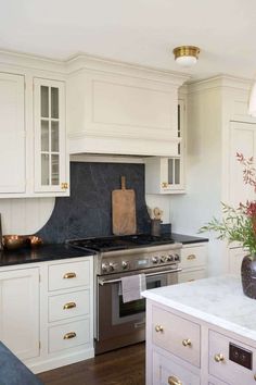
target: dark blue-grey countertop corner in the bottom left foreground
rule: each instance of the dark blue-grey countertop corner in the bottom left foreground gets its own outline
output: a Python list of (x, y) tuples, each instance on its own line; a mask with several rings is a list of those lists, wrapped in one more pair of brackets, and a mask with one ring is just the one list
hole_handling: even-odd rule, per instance
[(22, 363), (11, 350), (0, 341), (0, 384), (1, 385), (42, 385), (42, 383)]

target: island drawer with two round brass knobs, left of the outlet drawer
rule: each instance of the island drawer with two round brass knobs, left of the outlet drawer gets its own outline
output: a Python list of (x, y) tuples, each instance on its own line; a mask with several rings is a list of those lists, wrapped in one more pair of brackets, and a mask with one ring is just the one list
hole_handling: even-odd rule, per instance
[(153, 308), (153, 343), (200, 368), (200, 325)]

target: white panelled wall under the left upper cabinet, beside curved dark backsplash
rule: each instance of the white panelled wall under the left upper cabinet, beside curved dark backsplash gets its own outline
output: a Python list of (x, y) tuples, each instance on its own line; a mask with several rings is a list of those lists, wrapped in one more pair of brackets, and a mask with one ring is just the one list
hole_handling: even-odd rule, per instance
[(2, 233), (34, 234), (51, 216), (55, 198), (0, 199)]

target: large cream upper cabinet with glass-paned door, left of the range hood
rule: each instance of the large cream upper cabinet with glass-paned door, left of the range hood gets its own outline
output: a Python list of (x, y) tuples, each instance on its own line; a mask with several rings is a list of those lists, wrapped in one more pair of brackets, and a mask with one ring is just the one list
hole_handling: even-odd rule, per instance
[(63, 64), (0, 53), (0, 198), (69, 195)]

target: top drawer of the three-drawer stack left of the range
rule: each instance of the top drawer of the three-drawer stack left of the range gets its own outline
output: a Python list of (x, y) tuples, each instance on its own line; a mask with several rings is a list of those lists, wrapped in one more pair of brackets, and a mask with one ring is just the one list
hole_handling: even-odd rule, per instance
[(90, 261), (52, 264), (48, 272), (50, 291), (90, 283)]

